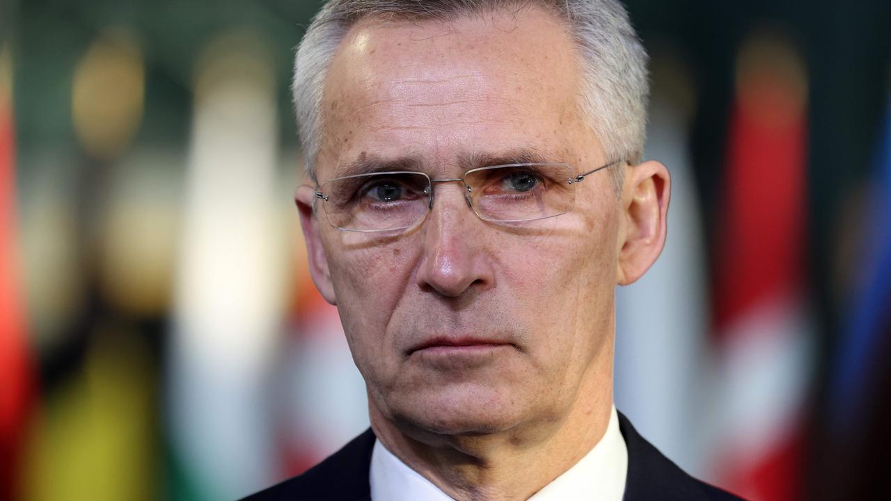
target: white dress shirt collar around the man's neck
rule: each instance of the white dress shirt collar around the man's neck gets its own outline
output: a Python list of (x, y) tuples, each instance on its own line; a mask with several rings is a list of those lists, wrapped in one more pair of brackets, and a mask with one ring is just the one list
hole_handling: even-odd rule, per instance
[[(572, 468), (529, 497), (528, 501), (620, 501), (625, 493), (628, 449), (613, 406), (601, 441)], [(415, 472), (375, 440), (369, 473), (372, 501), (452, 501), (430, 480)]]

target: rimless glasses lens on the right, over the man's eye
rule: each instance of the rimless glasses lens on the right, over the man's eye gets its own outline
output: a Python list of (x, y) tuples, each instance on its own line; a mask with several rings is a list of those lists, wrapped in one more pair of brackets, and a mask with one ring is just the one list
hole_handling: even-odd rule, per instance
[(511, 222), (552, 218), (572, 210), (575, 190), (567, 165), (522, 164), (476, 168), (464, 181), (480, 218)]

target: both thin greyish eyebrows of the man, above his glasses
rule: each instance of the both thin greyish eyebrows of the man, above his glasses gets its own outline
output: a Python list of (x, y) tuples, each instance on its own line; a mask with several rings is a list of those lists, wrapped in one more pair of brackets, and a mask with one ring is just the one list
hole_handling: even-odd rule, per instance
[[(388, 171), (422, 172), (426, 162), (420, 157), (406, 156), (386, 159), (374, 154), (363, 154), (358, 159), (344, 164), (335, 171), (334, 177), (350, 177), (361, 174)], [(544, 154), (537, 148), (514, 148), (504, 152), (465, 153), (458, 157), (462, 171), (471, 168), (492, 167), (513, 163), (561, 163), (560, 160)]]

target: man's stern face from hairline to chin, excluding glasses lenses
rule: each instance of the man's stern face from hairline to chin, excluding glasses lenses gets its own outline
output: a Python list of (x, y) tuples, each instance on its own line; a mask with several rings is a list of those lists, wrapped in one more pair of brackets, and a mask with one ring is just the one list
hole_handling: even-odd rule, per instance
[[(576, 109), (573, 53), (536, 9), (361, 21), (325, 83), (319, 182), (363, 159), (411, 158), (434, 178), (519, 152), (576, 173), (615, 160)], [(580, 389), (609, 384), (620, 208), (607, 171), (575, 189), (572, 212), (511, 226), (477, 218), (457, 183), (437, 184), (423, 224), (397, 236), (305, 221), (377, 411), (430, 431), (503, 431), (559, 422)]]

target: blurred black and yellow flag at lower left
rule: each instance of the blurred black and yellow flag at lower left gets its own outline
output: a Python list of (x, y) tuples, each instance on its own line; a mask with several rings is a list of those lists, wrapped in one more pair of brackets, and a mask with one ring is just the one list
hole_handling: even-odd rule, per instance
[(83, 365), (42, 398), (28, 444), (29, 501), (158, 498), (154, 368), (123, 324), (94, 324)]

